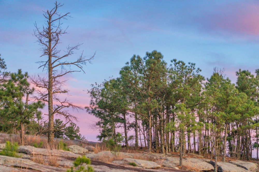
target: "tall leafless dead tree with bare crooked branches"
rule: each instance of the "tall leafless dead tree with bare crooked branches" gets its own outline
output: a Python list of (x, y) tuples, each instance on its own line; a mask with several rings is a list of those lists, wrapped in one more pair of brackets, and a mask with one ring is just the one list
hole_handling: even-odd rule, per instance
[[(48, 143), (53, 146), (54, 140), (54, 116), (63, 116), (66, 121), (77, 120), (67, 108), (78, 109), (78, 107), (70, 102), (68, 99), (61, 100), (58, 96), (61, 93), (68, 93), (69, 90), (63, 88), (67, 80), (62, 80), (62, 77), (68, 73), (83, 71), (83, 65), (87, 62), (91, 63), (94, 55), (90, 58), (85, 58), (83, 53), (79, 58), (73, 59), (71, 55), (75, 50), (79, 49), (82, 44), (76, 46), (68, 46), (64, 54), (61, 55), (61, 50), (57, 48), (57, 45), (61, 43), (60, 36), (66, 34), (66, 29), (61, 28), (61, 20), (67, 20), (70, 13), (61, 14), (57, 10), (63, 6), (63, 4), (55, 2), (55, 6), (51, 10), (44, 12), (46, 18), (46, 26), (39, 28), (35, 22), (34, 36), (37, 38), (37, 42), (41, 45), (42, 55), (44, 60), (38, 61), (39, 68), (43, 71), (47, 71), (47, 77), (34, 77), (32, 82), (39, 88), (38, 99), (48, 103)], [(77, 68), (74, 70), (73, 67)], [(85, 73), (85, 72), (84, 72)]]

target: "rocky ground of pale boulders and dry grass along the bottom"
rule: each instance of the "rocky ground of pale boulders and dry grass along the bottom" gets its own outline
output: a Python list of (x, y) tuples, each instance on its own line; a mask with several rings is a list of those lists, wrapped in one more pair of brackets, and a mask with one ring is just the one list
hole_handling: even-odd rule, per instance
[[(0, 133), (0, 149), (5, 146), (5, 141), (15, 135)], [(85, 142), (85, 141), (84, 141)], [(95, 171), (119, 172), (119, 171), (213, 171), (214, 161), (205, 159), (202, 156), (188, 154), (183, 158), (183, 169), (179, 169), (178, 154), (158, 154), (150, 155), (142, 153), (125, 153), (111, 151), (95, 151), (95, 144), (84, 143), (79, 140), (71, 142), (68, 146), (70, 151), (57, 149), (42, 149), (33, 146), (19, 146), (18, 154), (20, 158), (0, 155), (0, 172), (2, 171), (66, 171), (73, 166), (73, 161), (85, 155), (91, 159), (91, 166)], [(79, 146), (80, 145), (80, 146)], [(94, 153), (94, 151), (96, 153)], [(136, 167), (129, 165), (135, 163)], [(258, 171), (258, 165), (254, 162), (232, 160), (228, 162), (218, 162), (218, 171), (221, 172), (242, 172)]]

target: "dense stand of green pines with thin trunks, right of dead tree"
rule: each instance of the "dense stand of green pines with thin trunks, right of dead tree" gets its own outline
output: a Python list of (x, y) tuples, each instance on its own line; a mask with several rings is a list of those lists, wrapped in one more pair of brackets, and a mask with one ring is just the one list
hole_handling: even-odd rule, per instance
[(133, 55), (118, 78), (88, 91), (86, 110), (98, 118), (97, 137), (118, 143), (123, 128), (125, 145), (134, 140), (148, 153), (192, 152), (225, 161), (226, 156), (249, 160), (257, 149), (258, 158), (259, 70), (254, 76), (240, 69), (236, 84), (224, 69), (215, 67), (206, 79), (200, 72), (195, 63), (168, 64), (157, 51)]

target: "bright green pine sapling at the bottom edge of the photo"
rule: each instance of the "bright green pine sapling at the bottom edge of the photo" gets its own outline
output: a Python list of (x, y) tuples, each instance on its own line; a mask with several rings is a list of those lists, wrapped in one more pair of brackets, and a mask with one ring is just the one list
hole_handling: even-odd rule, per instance
[[(87, 169), (85, 169), (85, 165), (91, 164), (91, 160), (89, 158), (86, 158), (85, 155), (82, 157), (77, 157), (76, 160), (74, 161), (74, 167), (71, 167), (70, 169), (67, 170), (67, 172), (93, 172), (92, 166), (87, 166)], [(75, 170), (74, 170), (75, 168)]]

